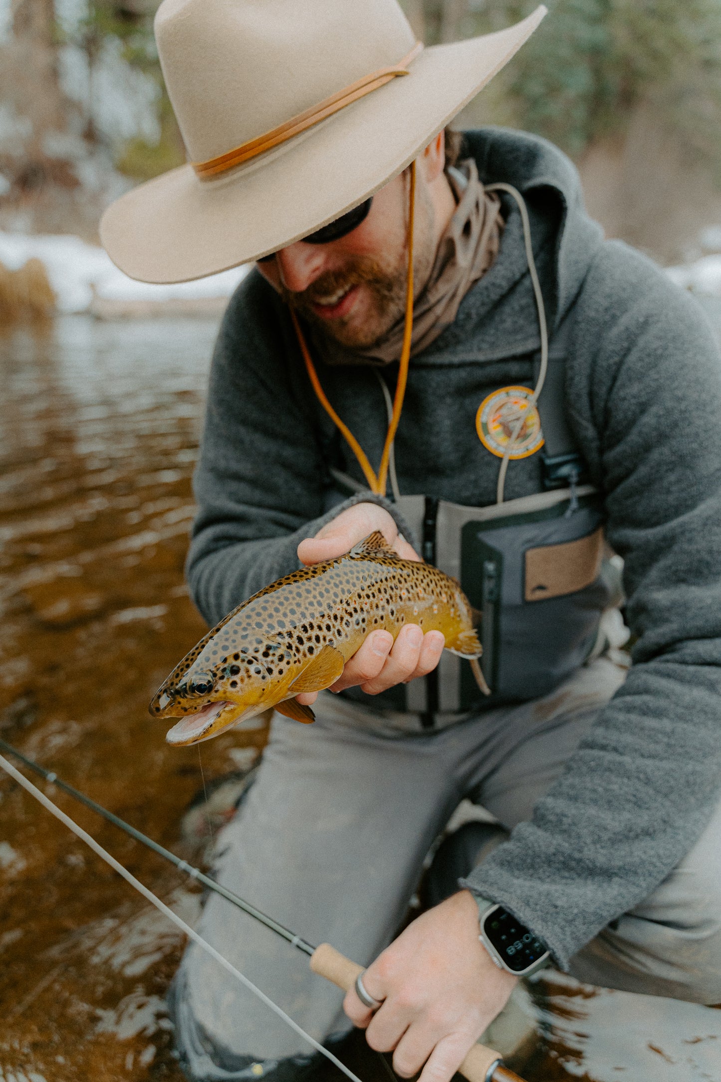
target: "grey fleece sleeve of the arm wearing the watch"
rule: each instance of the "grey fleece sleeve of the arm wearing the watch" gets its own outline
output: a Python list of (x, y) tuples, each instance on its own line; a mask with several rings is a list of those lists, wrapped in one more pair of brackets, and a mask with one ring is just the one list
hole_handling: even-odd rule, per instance
[(465, 881), (543, 936), (563, 967), (693, 846), (721, 787), (721, 361), (695, 303), (604, 246), (577, 301), (568, 406), (635, 645), (530, 822)]

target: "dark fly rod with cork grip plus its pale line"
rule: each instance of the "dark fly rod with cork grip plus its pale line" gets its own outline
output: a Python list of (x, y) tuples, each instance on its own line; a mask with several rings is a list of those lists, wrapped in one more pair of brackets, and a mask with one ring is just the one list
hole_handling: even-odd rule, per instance
[[(282, 924), (279, 924), (278, 921), (273, 921), (272, 918), (268, 916), (259, 909), (256, 909), (255, 906), (251, 906), (250, 902), (245, 901), (243, 898), (240, 898), (237, 894), (233, 894), (232, 890), (228, 890), (219, 883), (216, 883), (215, 880), (212, 880), (209, 875), (203, 874), (203, 872), (201, 872), (199, 868), (193, 868), (191, 865), (188, 865), (187, 861), (181, 860), (181, 858), (176, 857), (174, 853), (170, 852), (170, 849), (165, 849), (162, 845), (159, 845), (157, 842), (153, 842), (152, 839), (148, 837), (146, 834), (143, 834), (139, 830), (136, 830), (135, 827), (131, 827), (130, 823), (126, 823), (123, 819), (120, 819), (119, 816), (114, 815), (112, 812), (108, 812), (107, 808), (104, 808), (101, 804), (97, 804), (95, 801), (91, 800), (90, 796), (85, 796), (84, 793), (81, 793), (79, 790), (74, 789), (72, 786), (69, 786), (66, 781), (59, 779), (53, 770), (45, 770), (44, 767), (34, 762), (34, 760), (28, 758), (26, 755), (23, 755), (23, 753), (13, 748), (12, 744), (9, 744), (4, 740), (0, 740), (0, 750), (6, 752), (8, 754), (16, 756), (22, 763), (25, 764), (25, 766), (28, 767), (28, 769), (34, 770), (36, 774), (40, 775), (42, 778), (45, 779), (45, 781), (50, 782), (53, 786), (56, 786), (58, 789), (62, 789), (64, 792), (68, 793), (68, 795), (72, 796), (75, 800), (84, 804), (93, 812), (96, 812), (98, 815), (103, 816), (104, 819), (107, 819), (108, 822), (114, 823), (114, 826), (119, 827), (120, 830), (123, 830), (126, 834), (130, 834), (130, 836), (135, 839), (135, 841), (141, 842), (143, 845), (146, 845), (148, 848), (152, 849), (153, 853), (157, 853), (159, 856), (164, 857), (166, 860), (173, 863), (179, 871), (183, 871), (186, 874), (190, 875), (199, 883), (202, 883), (204, 886), (208, 886), (211, 890), (215, 890), (216, 894), (219, 894), (227, 901), (230, 901), (233, 906), (237, 906), (239, 909), (242, 909), (243, 912), (248, 913), (256, 921), (259, 921), (261, 924), (264, 924), (267, 928), (270, 928), (271, 932), (276, 932), (278, 935), (282, 936), (282, 938), (285, 939), (288, 942), (292, 944), (293, 947), (296, 947), (298, 950), (302, 950), (305, 954), (310, 955), (310, 968), (312, 969), (312, 972), (321, 977), (324, 977), (326, 980), (330, 980), (332, 984), (336, 985), (336, 987), (341, 988), (343, 991), (345, 992), (350, 991), (350, 989), (355, 987), (356, 978), (358, 977), (358, 975), (364, 972), (364, 967), (362, 965), (358, 965), (358, 963), (352, 962), (350, 959), (346, 958), (344, 954), (337, 951), (335, 947), (331, 947), (330, 944), (320, 944), (319, 947), (313, 947), (311, 944), (306, 942), (305, 939), (303, 939), (295, 933), (291, 932), (290, 928), (286, 928)], [(290, 1018), (283, 1011), (281, 1011), (281, 1008), (276, 1003), (272, 1002), (272, 1000), (269, 1000), (263, 992), (261, 992), (258, 988), (252, 985), (252, 982), (248, 980), (248, 978), (244, 977), (243, 974), (241, 974), (238, 969), (236, 969), (235, 966), (232, 966), (225, 958), (223, 958), (222, 954), (219, 954), (213, 947), (211, 947), (211, 945), (208, 944), (206, 940), (204, 940), (201, 936), (199, 936), (198, 933), (195, 932), (195, 929), (190, 928), (189, 925), (185, 924), (185, 922), (182, 921), (181, 918), (177, 916), (172, 909), (170, 909), (162, 901), (160, 901), (160, 899), (157, 898), (151, 890), (148, 890), (146, 886), (144, 886), (122, 865), (120, 865), (114, 857), (111, 857), (110, 854), (107, 853), (90, 834), (88, 834), (84, 830), (82, 830), (82, 828), (79, 827), (72, 819), (70, 819), (69, 816), (66, 816), (64, 812), (61, 812), (61, 809), (57, 808), (52, 801), (50, 801), (42, 792), (40, 792), (39, 789), (37, 789), (34, 784), (31, 784), (31, 782), (29, 782), (26, 778), (24, 778), (23, 775), (19, 774), (19, 771), (16, 770), (10, 763), (8, 763), (6, 760), (4, 760), (1, 755), (0, 755), (0, 767), (3, 770), (5, 770), (5, 773), (9, 774), (12, 778), (14, 778), (15, 781), (22, 784), (23, 788), (27, 790), (27, 792), (29, 792), (32, 796), (35, 796), (36, 800), (38, 800), (43, 805), (43, 807), (46, 807), (48, 810), (52, 813), (52, 815), (54, 815), (57, 819), (64, 822), (66, 827), (72, 830), (74, 833), (78, 835), (78, 837), (81, 837), (82, 841), (84, 841), (95, 853), (97, 853), (98, 856), (101, 856), (107, 863), (109, 863), (110, 867), (118, 872), (118, 874), (122, 875), (123, 879), (125, 879), (132, 886), (134, 886), (135, 889), (138, 890), (145, 898), (147, 898), (147, 900), (150, 901), (157, 909), (160, 909), (160, 911), (164, 913), (165, 916), (169, 918), (169, 920), (173, 921), (173, 923), (176, 924), (178, 927), (181, 927), (182, 931), (186, 933), (186, 935), (188, 935), (191, 939), (198, 942), (198, 945), (203, 950), (205, 950), (208, 953), (211, 953), (212, 956), (215, 958), (216, 961), (218, 961), (221, 965), (224, 966), (224, 968), (228, 969), (228, 972), (231, 973), (233, 976), (236, 976), (238, 979), (240, 979), (241, 982), (245, 985), (245, 987), (250, 988), (254, 992), (254, 994), (258, 995), (258, 998), (262, 999), (264, 1003), (266, 1003), (272, 1011), (276, 1012), (276, 1014), (278, 1014), (281, 1018), (283, 1018), (283, 1020), (286, 1021), (294, 1030), (296, 1030), (296, 1032), (298, 1032), (304, 1039), (308, 1040), (312, 1044), (312, 1046), (322, 1052), (323, 1055), (325, 1055), (328, 1058), (331, 1058), (331, 1060), (341, 1070), (343, 1070), (344, 1074), (352, 1079), (353, 1082), (359, 1082), (356, 1076), (352, 1074), (350, 1071), (348, 1071), (348, 1069), (339, 1060), (337, 1060), (334, 1056), (332, 1056), (326, 1048), (324, 1048), (322, 1045), (319, 1045), (316, 1041), (313, 1041), (312, 1038), (310, 1038), (304, 1030), (302, 1030), (296, 1025), (296, 1022), (293, 1021), (292, 1018)], [(458, 1068), (458, 1071), (466, 1079), (468, 1079), (468, 1082), (523, 1082), (523, 1080), (520, 1079), (518, 1074), (515, 1074), (513, 1071), (509, 1070), (509, 1068), (504, 1066), (502, 1056), (498, 1052), (495, 1052), (493, 1048), (488, 1048), (483, 1044), (475, 1044), (470, 1048), (466, 1058)]]

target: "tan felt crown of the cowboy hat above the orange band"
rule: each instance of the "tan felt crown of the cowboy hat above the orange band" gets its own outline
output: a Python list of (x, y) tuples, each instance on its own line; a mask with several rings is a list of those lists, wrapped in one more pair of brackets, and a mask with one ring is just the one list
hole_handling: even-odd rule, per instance
[(396, 0), (163, 0), (158, 53), (191, 161), (257, 138), (415, 36)]

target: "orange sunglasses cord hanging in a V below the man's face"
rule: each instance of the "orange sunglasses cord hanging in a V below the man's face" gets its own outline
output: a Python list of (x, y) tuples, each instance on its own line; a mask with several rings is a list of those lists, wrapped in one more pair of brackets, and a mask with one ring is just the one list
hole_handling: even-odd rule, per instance
[(345, 437), (351, 451), (358, 459), (361, 470), (365, 480), (368, 481), (369, 488), (376, 496), (386, 494), (386, 486), (388, 481), (388, 462), (390, 459), (390, 448), (393, 445), (393, 439), (396, 438), (396, 432), (398, 430), (398, 422), (401, 419), (401, 410), (403, 409), (403, 398), (405, 396), (405, 386), (408, 383), (408, 372), (409, 364), (411, 360), (411, 337), (413, 333), (413, 223), (414, 223), (414, 212), (415, 212), (415, 161), (411, 162), (411, 184), (410, 184), (410, 209), (409, 209), (409, 234), (408, 234), (408, 280), (405, 287), (405, 327), (403, 330), (403, 346), (401, 348), (401, 357), (398, 368), (398, 382), (396, 384), (396, 394), (393, 396), (393, 411), (390, 418), (390, 423), (388, 424), (388, 432), (386, 433), (386, 441), (383, 447), (383, 454), (380, 456), (380, 467), (376, 476), (371, 463), (368, 460), (365, 451), (358, 443), (352, 432), (348, 425), (344, 424), (338, 414), (335, 412), (330, 401), (325, 396), (325, 392), (320, 385), (320, 380), (318, 379), (318, 373), (316, 367), (312, 362), (310, 356), (310, 351), (306, 344), (305, 335), (301, 329), (301, 324), (298, 318), (291, 308), (291, 319), (293, 320), (293, 326), (295, 327), (295, 333), (298, 339), (298, 344), (301, 346), (301, 353), (303, 354), (303, 359), (306, 365), (306, 370), (308, 377), (312, 384), (312, 388), (318, 395), (318, 400), (321, 406), (331, 418), (333, 423), (337, 425), (338, 430)]

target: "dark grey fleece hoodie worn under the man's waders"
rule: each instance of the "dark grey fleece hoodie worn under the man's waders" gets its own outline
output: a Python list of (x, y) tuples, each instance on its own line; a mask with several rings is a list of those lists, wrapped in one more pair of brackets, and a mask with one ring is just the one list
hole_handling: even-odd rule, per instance
[[(467, 133), (485, 183), (528, 202), (551, 328), (573, 308), (566, 409), (606, 535), (625, 560), (636, 643), (628, 678), (530, 822), (470, 885), (572, 954), (641, 901), (693, 845), (721, 787), (721, 360), (705, 317), (649, 260), (604, 241), (577, 173), (553, 146), (503, 129)], [(455, 322), (411, 364), (396, 439), (401, 492), (495, 502), (498, 459), (476, 435), (478, 404), (532, 385), (537, 317), (520, 215)], [(385, 370), (392, 381), (397, 366)], [(372, 463), (386, 411), (368, 367), (319, 366), (323, 387)], [(283, 303), (252, 273), (226, 312), (211, 372), (192, 595), (212, 624), (298, 567), (298, 542), (359, 499), (351, 452), (307, 380)], [(542, 489), (539, 456), (510, 463), (506, 499)], [(401, 528), (403, 524), (401, 523)]]

